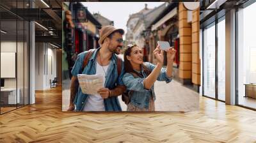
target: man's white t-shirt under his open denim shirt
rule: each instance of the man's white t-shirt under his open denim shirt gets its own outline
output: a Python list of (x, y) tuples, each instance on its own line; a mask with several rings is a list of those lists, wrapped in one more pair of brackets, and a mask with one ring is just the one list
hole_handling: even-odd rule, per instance
[[(106, 73), (108, 71), (108, 66), (109, 64), (107, 66), (103, 66)], [(103, 68), (97, 62), (96, 74), (102, 74), (103, 83), (105, 83), (106, 77)], [(100, 94), (89, 95), (84, 105), (83, 111), (105, 111), (104, 99), (100, 96)]]

